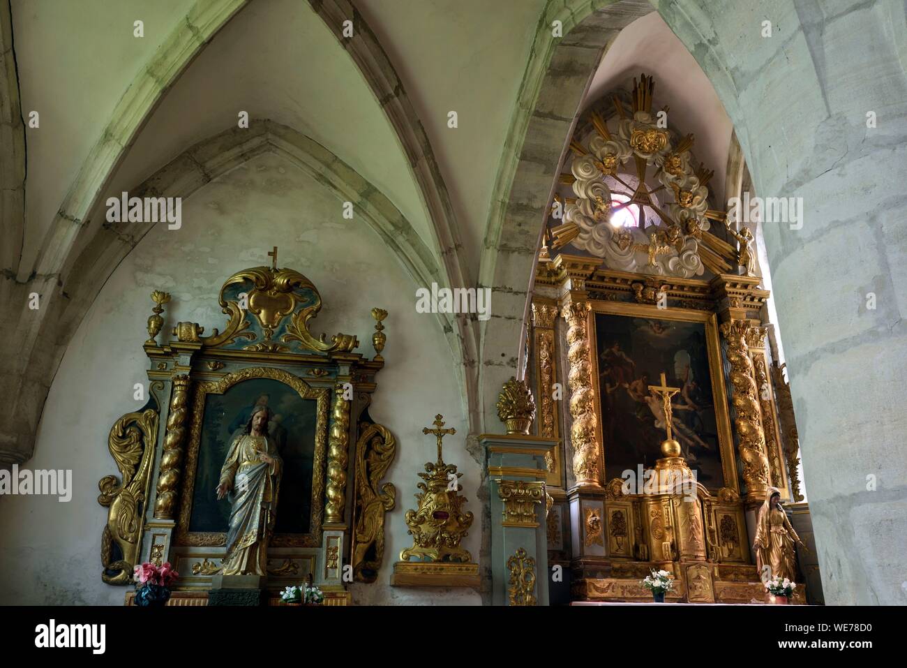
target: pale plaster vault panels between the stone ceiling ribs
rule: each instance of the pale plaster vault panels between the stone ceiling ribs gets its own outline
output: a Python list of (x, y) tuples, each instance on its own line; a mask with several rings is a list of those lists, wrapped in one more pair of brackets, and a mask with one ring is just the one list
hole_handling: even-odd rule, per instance
[[(543, 0), (357, 4), (424, 125), (450, 192), (463, 263), (473, 274), (543, 6)], [(22, 108), (24, 115), (41, 113), (40, 132), (26, 136), (23, 267), (34, 265), (123, 93), (192, 7), (191, 0), (13, 0)], [(133, 36), (136, 20), (144, 24), (141, 38)], [(239, 111), (248, 111), (252, 123), (268, 118), (324, 145), (384, 192), (439, 254), (429, 212), (375, 94), (322, 18), (299, 0), (242, 6), (163, 94), (106, 190), (134, 187), (191, 144), (235, 127)], [(451, 111), (457, 128), (448, 127)]]

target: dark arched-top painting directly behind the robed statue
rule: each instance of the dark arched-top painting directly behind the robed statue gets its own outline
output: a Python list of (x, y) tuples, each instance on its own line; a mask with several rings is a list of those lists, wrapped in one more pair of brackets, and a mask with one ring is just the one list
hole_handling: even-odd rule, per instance
[(315, 460), (317, 400), (302, 398), (273, 378), (251, 378), (223, 394), (205, 397), (199, 465), (192, 493), (190, 532), (225, 532), (230, 505), (218, 500), (221, 467), (230, 444), (248, 433), (250, 417), (267, 407), (267, 437), (282, 460), (275, 534), (307, 534), (311, 527), (312, 470)]

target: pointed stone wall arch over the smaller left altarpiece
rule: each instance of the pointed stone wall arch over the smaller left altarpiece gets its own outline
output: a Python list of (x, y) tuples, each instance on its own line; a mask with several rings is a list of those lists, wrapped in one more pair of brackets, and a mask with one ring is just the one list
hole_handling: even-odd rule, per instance
[[(219, 175), (264, 152), (287, 159), (334, 192), (339, 201), (354, 202), (357, 215), (395, 252), (415, 285), (444, 281), (443, 270), (434, 254), (382, 192), (324, 146), (280, 123), (262, 120), (249, 129), (231, 128), (198, 142), (129, 192), (136, 197), (188, 198)], [(90, 218), (103, 215), (102, 201), (101, 198), (95, 205)], [(28, 357), (21, 378), (22, 387), (28, 392), (24, 398), (28, 401), (20, 400), (20, 407), (32, 411), (29, 417), (34, 418), (35, 424), (73, 333), (104, 283), (154, 224), (104, 222), (78, 256), (67, 262), (61, 276), (64, 290), (54, 290), (43, 298), (46, 303), (42, 308), (53, 310), (54, 318), (43, 319), (41, 327), (34, 332), (34, 341), (25, 352)], [(450, 316), (438, 314), (437, 318), (451, 347), (454, 368), (462, 372), (463, 360), (459, 357), (462, 349), (453, 334)], [(464, 412), (466, 406), (467, 398), (463, 395)], [(28, 435), (17, 436), (24, 439)], [(34, 438), (34, 429), (31, 437)], [(24, 461), (30, 455), (22, 452), (16, 461)]]

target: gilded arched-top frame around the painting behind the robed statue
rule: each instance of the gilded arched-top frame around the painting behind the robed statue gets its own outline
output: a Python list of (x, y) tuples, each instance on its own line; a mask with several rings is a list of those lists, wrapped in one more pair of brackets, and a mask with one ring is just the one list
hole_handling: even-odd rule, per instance
[(175, 545), (189, 547), (210, 547), (225, 545), (227, 535), (217, 532), (190, 532), (192, 496), (195, 491), (195, 474), (199, 464), (201, 426), (204, 419), (205, 400), (211, 394), (224, 394), (229, 388), (250, 378), (271, 378), (297, 391), (304, 399), (317, 400), (317, 423), (315, 428), (315, 460), (312, 467), (312, 516), (307, 534), (275, 534), (270, 545), (275, 547), (317, 547), (321, 545), (321, 526), (325, 506), (325, 456), (327, 453), (327, 411), (330, 404), (328, 388), (313, 388), (305, 380), (280, 368), (247, 367), (227, 374), (216, 381), (201, 381), (196, 384), (195, 398), (191, 411), (189, 447), (186, 457), (186, 475), (183, 476), (180, 497), (180, 517), (175, 535)]

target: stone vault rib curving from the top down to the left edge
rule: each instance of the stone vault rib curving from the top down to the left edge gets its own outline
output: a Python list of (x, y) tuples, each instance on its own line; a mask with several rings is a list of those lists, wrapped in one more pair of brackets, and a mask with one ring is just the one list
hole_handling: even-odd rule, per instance
[[(247, 2), (197, 0), (192, 5), (116, 104), (110, 121), (85, 158), (44, 235), (34, 265), (24, 266), (16, 257), (15, 266), (5, 275), (0, 296), (11, 308), (0, 334), (5, 346), (15, 350), (15, 354), (0, 359), (0, 394), (12, 398), (9, 413), (18, 416), (18, 421), (0, 427), (0, 461), (21, 463), (32, 456), (44, 399), (64, 349), (54, 345), (41, 350), (36, 344), (44, 340), (42, 337), (47, 332), (56, 329), (50, 320), (57, 315), (57, 309), (71, 305), (69, 286), (63, 283), (63, 268), (74, 260), (73, 250), (88, 212), (163, 94)], [(4, 25), (8, 24), (4, 22)], [(6, 188), (5, 182), (3, 186)], [(5, 228), (18, 224), (15, 220), (7, 221), (11, 213), (16, 213), (14, 208), (4, 207)], [(19, 252), (15, 248), (14, 251)], [(29, 308), (30, 294), (39, 296), (39, 308)], [(82, 314), (77, 321), (82, 319)]]

